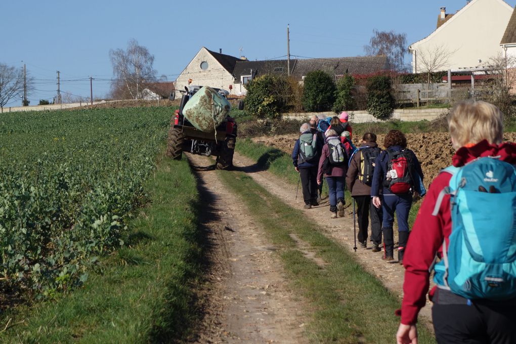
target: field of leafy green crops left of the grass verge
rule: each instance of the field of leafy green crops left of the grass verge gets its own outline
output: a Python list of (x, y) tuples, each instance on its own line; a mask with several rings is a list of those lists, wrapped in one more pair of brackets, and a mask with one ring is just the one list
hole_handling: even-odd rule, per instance
[(0, 117), (0, 279), (53, 296), (123, 245), (146, 202), (170, 108), (4, 113)]

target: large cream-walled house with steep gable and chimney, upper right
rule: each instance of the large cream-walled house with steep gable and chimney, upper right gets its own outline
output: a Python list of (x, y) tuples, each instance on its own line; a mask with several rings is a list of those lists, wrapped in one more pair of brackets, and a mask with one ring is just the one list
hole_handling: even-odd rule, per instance
[(441, 7), (437, 28), (412, 43), (412, 71), (474, 69), (500, 52), (513, 9), (503, 0), (472, 0), (455, 14)]

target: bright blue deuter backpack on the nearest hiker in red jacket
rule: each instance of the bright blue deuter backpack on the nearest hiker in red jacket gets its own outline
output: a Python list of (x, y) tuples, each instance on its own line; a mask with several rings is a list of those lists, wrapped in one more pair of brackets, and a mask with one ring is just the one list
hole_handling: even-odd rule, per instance
[(447, 167), (451, 234), (434, 265), (434, 282), (466, 299), (516, 297), (516, 169), (496, 157)]

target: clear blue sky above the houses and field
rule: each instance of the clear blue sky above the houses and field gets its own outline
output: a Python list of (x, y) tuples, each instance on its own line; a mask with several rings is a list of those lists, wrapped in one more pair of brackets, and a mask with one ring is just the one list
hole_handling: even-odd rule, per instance
[[(495, 1), (495, 0), (493, 0)], [(516, 0), (507, 3), (514, 7)], [(175, 80), (202, 46), (251, 60), (286, 55), (290, 24), (291, 55), (363, 55), (373, 29), (407, 34), (407, 43), (428, 36), (440, 7), (455, 13), (465, 0), (319, 1), (133, 1), (3, 0), (0, 2), (0, 62), (22, 67), (35, 78), (30, 104), (61, 90), (89, 96), (109, 91), (109, 50), (134, 38), (154, 55), (154, 69)], [(24, 61), (24, 62), (22, 62)], [(409, 56), (405, 63), (410, 63)], [(64, 96), (64, 95), (63, 95)], [(8, 106), (19, 106), (21, 100)]]

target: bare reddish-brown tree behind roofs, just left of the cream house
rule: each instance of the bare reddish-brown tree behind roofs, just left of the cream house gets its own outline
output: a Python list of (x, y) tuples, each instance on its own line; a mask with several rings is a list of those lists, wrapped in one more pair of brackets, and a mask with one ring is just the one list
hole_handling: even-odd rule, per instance
[(399, 72), (407, 70), (403, 63), (407, 52), (407, 34), (374, 29), (369, 45), (364, 46), (364, 52), (367, 56), (387, 56), (392, 70)]

